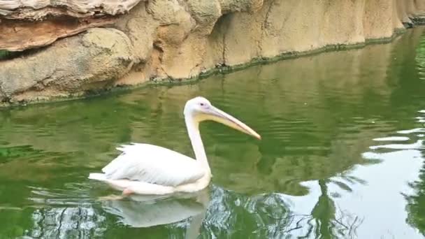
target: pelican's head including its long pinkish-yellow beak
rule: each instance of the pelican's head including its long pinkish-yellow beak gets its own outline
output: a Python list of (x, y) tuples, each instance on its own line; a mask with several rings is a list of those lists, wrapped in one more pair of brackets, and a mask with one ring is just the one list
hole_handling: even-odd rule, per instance
[(185, 105), (185, 117), (191, 117), (196, 124), (206, 120), (213, 120), (261, 139), (261, 136), (249, 126), (224, 111), (219, 110), (215, 106), (212, 106), (210, 101), (203, 97), (195, 97), (187, 101)]

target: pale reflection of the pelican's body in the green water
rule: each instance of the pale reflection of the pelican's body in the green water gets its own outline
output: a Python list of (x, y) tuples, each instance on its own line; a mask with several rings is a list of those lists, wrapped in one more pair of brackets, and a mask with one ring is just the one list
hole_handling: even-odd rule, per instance
[[(164, 196), (131, 196), (103, 201), (103, 209), (120, 217), (120, 222), (132, 227), (150, 227), (180, 222), (202, 215), (209, 203), (208, 190), (178, 198)], [(192, 220), (193, 221), (193, 220)], [(199, 225), (200, 226), (200, 225)]]

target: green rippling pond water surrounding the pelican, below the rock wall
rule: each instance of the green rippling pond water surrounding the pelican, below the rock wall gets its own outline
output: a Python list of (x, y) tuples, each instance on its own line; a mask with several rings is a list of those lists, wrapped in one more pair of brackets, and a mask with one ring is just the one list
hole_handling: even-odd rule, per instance
[[(424, 238), (425, 36), (0, 111), (0, 238)], [(199, 195), (117, 201), (87, 180), (122, 143), (193, 156), (193, 96), (255, 140), (207, 122), (213, 178)]]

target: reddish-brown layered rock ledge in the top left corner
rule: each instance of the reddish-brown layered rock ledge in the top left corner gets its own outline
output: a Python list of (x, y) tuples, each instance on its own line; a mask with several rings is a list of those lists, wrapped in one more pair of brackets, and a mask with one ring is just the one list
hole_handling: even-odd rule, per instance
[[(0, 0), (0, 50), (40, 48), (59, 38), (110, 25), (141, 0)], [(34, 34), (36, 32), (36, 34)]]

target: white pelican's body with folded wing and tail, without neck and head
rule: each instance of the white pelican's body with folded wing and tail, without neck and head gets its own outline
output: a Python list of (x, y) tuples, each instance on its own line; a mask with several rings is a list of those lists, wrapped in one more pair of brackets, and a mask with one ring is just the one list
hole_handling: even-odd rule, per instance
[(199, 161), (157, 145), (134, 143), (117, 148), (122, 154), (89, 178), (126, 194), (194, 192), (208, 186), (209, 168)]

